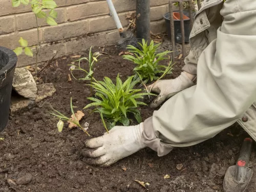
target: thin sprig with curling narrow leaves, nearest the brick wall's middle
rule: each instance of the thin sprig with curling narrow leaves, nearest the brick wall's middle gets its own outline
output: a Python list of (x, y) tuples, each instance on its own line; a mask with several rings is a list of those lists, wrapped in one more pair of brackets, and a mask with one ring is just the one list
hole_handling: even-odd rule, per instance
[[(95, 62), (98, 62), (98, 59), (97, 59), (98, 56), (99, 55), (96, 56), (92, 53), (92, 46), (91, 46), (90, 51), (89, 51), (89, 57), (82, 57), (78, 60), (75, 60), (75, 62), (78, 61), (78, 66), (73, 65), (73, 64), (69, 65), (69, 66), (71, 66), (70, 71), (71, 71), (72, 76), (77, 80), (77, 78), (73, 75), (72, 72), (76, 71), (76, 70), (83, 71), (85, 73), (85, 77), (78, 78), (78, 80), (90, 80), (90, 82), (92, 84), (92, 82), (94, 80), (94, 77), (93, 77), (93, 75), (94, 75), (94, 66), (95, 66)], [(89, 63), (89, 72), (80, 67), (80, 62), (82, 60), (87, 60), (88, 61), (88, 63)], [(92, 92), (93, 92), (93, 90), (92, 90), (92, 87), (91, 87), (91, 94), (92, 94)]]

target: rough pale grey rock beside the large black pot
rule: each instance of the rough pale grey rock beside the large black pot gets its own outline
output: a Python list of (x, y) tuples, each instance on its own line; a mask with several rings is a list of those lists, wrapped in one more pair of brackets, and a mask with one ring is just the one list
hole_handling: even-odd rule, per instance
[(19, 95), (31, 100), (36, 99), (37, 87), (29, 70), (16, 68), (12, 86)]

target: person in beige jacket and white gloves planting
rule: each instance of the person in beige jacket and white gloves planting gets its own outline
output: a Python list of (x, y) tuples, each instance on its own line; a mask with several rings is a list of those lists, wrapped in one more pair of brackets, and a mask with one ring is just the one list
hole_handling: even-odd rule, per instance
[(151, 106), (170, 98), (144, 123), (116, 126), (87, 141), (88, 163), (109, 166), (146, 146), (164, 156), (174, 147), (212, 138), (236, 121), (255, 140), (255, 26), (255, 0), (205, 0), (190, 33), (183, 72), (155, 84), (152, 90), (159, 96)]

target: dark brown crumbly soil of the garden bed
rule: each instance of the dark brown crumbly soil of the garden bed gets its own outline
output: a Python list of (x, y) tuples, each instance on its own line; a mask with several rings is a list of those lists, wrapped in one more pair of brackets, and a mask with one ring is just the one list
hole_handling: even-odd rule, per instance
[[(115, 79), (120, 73), (124, 80), (133, 74), (133, 64), (118, 56), (114, 47), (106, 48), (104, 52), (110, 55), (103, 55), (105, 58), (97, 63), (96, 79), (104, 76)], [(175, 148), (164, 157), (158, 157), (156, 152), (146, 148), (108, 168), (84, 162), (80, 150), (89, 137), (79, 129), (70, 130), (67, 125), (62, 133), (58, 133), (57, 121), (49, 115), (50, 105), (70, 115), (70, 97), (77, 106), (75, 111), (89, 103), (86, 97), (90, 95), (90, 89), (86, 82), (75, 79), (68, 82), (67, 65), (75, 59), (70, 56), (59, 58), (42, 75), (44, 82), (54, 84), (56, 93), (53, 97), (10, 117), (9, 126), (0, 135), (4, 138), (0, 140), (0, 191), (147, 191), (135, 180), (150, 183), (148, 191), (154, 192), (223, 191), (225, 171), (235, 163), (247, 136), (237, 124), (198, 145)], [(183, 63), (178, 61), (173, 74), (167, 78), (178, 76), (182, 66)], [(148, 106), (140, 110), (143, 120), (153, 114)], [(89, 111), (83, 112), (85, 116), (81, 124), (90, 124), (88, 131), (92, 137), (102, 135), (104, 129), (99, 115), (89, 116)], [(255, 160), (250, 163), (253, 169), (254, 163)], [(169, 178), (164, 179), (165, 175)], [(12, 180), (18, 180), (19, 185), (13, 185)], [(254, 191), (255, 183), (253, 178), (248, 191)]]

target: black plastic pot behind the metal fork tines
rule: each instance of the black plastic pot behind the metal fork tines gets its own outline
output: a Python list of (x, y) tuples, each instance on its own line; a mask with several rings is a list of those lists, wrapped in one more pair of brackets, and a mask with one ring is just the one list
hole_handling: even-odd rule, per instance
[[(174, 12), (179, 12), (179, 11), (174, 11)], [(183, 14), (189, 17), (188, 11), (183, 11)], [(194, 12), (193, 12), (193, 16), (195, 17)], [(171, 39), (171, 36), (170, 36), (170, 14), (165, 13), (163, 17), (165, 19), (166, 32), (168, 34), (168, 38)], [(185, 42), (189, 42), (189, 34), (190, 34), (189, 25), (190, 25), (190, 18), (184, 19)], [(175, 34), (174, 34), (175, 42), (178, 44), (181, 44), (182, 39), (181, 39), (180, 20), (174, 19), (174, 32), (175, 32)]]

